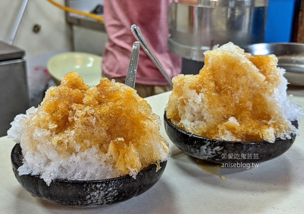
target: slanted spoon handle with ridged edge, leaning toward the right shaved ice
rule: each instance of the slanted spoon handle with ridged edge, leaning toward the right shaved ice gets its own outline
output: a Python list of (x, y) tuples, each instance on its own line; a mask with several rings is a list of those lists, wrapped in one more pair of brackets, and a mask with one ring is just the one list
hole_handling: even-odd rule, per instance
[(164, 70), (163, 66), (161, 63), (157, 60), (153, 52), (151, 51), (147, 41), (145, 40), (145, 37), (143, 36), (143, 33), (141, 33), (140, 28), (136, 25), (131, 26), (131, 31), (135, 37), (135, 39), (140, 43), (141, 47), (143, 50), (148, 54), (150, 59), (153, 61), (153, 63), (156, 65), (158, 70), (163, 74), (164, 78), (168, 81), (168, 83), (173, 86), (173, 82), (167, 72)]

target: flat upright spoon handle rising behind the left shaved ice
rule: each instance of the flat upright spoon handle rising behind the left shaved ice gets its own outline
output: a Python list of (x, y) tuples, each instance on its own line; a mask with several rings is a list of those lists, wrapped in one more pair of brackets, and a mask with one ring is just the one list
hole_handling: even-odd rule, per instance
[(137, 66), (139, 60), (139, 51), (140, 51), (140, 43), (134, 42), (131, 52), (129, 70), (125, 82), (125, 85), (128, 85), (133, 89), (135, 87), (135, 79), (136, 79)]

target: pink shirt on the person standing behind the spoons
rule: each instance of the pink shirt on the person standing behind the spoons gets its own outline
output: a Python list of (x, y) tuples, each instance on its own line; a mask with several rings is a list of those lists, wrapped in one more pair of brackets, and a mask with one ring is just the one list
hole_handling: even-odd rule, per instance
[[(105, 0), (105, 27), (109, 35), (102, 60), (102, 70), (112, 78), (126, 78), (132, 45), (136, 41), (131, 25), (140, 27), (151, 50), (168, 75), (181, 73), (181, 58), (168, 50), (168, 8), (173, 0)], [(136, 83), (168, 85), (161, 72), (140, 49)]]

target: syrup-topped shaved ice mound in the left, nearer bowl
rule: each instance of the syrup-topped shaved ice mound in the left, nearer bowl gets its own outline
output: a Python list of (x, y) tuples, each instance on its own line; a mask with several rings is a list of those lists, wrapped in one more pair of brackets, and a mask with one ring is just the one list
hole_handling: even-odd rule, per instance
[(16, 116), (8, 136), (22, 148), (19, 175), (100, 180), (137, 173), (169, 158), (160, 117), (129, 86), (102, 78), (88, 87), (76, 72)]

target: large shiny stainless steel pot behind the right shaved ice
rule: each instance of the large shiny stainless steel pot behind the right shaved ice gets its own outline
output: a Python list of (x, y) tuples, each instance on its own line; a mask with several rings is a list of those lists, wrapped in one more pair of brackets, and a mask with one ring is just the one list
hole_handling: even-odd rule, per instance
[[(194, 2), (194, 3), (192, 3)], [(169, 49), (203, 61), (216, 44), (264, 42), (268, 0), (180, 0), (168, 11)]]

